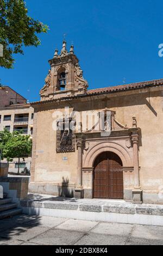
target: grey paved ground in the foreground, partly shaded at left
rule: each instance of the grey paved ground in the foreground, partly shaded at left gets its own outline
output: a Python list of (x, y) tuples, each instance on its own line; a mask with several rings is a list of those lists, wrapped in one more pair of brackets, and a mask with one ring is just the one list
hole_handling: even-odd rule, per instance
[(0, 245), (163, 245), (163, 227), (20, 215), (0, 221)]

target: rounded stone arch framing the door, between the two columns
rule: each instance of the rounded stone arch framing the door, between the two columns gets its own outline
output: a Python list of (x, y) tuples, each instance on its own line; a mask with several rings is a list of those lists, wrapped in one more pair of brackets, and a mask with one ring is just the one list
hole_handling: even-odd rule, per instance
[(115, 139), (114, 141), (112, 139), (105, 139), (105, 141), (95, 140), (89, 143), (88, 149), (83, 154), (82, 179), (84, 197), (93, 198), (94, 163), (98, 155), (103, 152), (112, 152), (121, 159), (123, 170), (123, 199), (132, 200), (132, 190), (134, 187), (133, 148), (129, 147), (128, 138)]

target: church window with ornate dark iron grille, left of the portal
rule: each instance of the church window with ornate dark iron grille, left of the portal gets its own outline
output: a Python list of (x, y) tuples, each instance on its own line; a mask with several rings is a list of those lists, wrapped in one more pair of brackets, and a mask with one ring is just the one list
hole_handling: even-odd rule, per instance
[(57, 153), (75, 151), (75, 120), (62, 120), (57, 123)]

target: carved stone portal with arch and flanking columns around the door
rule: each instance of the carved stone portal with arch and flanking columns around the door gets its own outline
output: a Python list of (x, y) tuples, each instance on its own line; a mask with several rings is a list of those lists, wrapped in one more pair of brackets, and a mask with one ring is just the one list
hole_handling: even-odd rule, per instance
[(132, 128), (112, 131), (109, 137), (101, 137), (100, 132), (76, 133), (78, 148), (78, 181), (75, 195), (78, 198), (93, 196), (93, 164), (96, 157), (111, 151), (123, 163), (124, 200), (142, 202), (139, 179), (139, 131)]

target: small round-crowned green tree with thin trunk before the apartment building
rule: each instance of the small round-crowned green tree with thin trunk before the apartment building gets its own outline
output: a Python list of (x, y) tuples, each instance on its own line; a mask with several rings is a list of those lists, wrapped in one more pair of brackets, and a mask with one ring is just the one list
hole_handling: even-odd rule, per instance
[(13, 132), (11, 138), (5, 143), (4, 157), (9, 159), (18, 158), (18, 171), (20, 172), (20, 158), (27, 156), (32, 151), (32, 141), (28, 135), (22, 135), (21, 132)]

